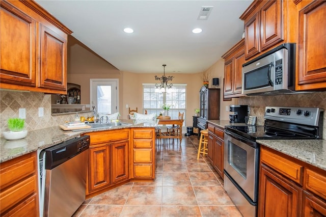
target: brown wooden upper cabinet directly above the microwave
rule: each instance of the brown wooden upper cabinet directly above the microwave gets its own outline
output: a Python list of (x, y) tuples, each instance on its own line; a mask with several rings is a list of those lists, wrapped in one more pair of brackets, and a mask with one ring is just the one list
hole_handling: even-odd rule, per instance
[(288, 28), (295, 30), (295, 4), (292, 1), (254, 1), (240, 16), (244, 20), (244, 57), (254, 58), (268, 48), (294, 42)]

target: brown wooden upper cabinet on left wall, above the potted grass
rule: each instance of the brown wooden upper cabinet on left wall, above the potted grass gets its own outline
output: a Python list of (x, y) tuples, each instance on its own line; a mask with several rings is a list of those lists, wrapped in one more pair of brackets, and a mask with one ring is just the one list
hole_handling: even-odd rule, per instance
[(66, 94), (72, 32), (34, 1), (1, 1), (0, 16), (2, 88)]

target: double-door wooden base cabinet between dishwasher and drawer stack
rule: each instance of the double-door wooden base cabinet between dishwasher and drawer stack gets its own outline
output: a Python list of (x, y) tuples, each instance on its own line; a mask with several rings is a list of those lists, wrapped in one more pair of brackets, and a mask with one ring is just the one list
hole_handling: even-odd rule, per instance
[(116, 129), (86, 133), (91, 140), (87, 198), (129, 179), (129, 131)]

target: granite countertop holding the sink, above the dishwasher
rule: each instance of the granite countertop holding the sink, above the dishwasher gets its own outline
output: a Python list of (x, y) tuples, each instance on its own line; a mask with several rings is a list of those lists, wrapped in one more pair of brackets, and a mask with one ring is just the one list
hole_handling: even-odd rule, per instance
[(130, 123), (129, 126), (115, 126), (107, 129), (85, 129), (83, 131), (62, 130), (59, 126), (48, 127), (44, 129), (29, 131), (24, 139), (20, 140), (6, 140), (0, 138), (0, 162), (4, 162), (15, 157), (48, 148), (57, 145), (61, 142), (79, 137), (80, 134), (86, 132), (113, 130), (130, 127), (155, 127), (156, 121), (151, 120), (120, 120), (125, 123)]

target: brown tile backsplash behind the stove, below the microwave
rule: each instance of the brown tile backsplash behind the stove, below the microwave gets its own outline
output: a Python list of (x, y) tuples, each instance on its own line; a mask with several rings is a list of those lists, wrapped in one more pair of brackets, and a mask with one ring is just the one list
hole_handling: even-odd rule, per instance
[(326, 91), (276, 96), (246, 96), (238, 104), (250, 106), (250, 115), (257, 116), (257, 124), (264, 124), (265, 106), (320, 107), (323, 108), (322, 138), (326, 139)]

